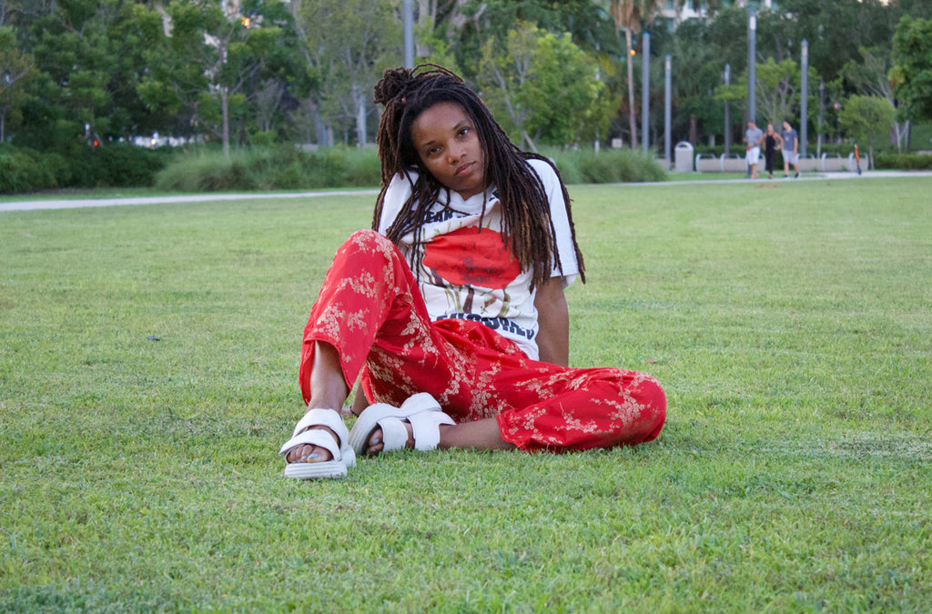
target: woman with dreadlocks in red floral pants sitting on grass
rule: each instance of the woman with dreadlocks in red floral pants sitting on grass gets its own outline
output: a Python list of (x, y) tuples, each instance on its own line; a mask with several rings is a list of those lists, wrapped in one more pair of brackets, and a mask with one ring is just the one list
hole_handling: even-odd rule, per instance
[[(554, 166), (519, 151), (442, 68), (386, 71), (376, 102), (374, 230), (336, 252), (310, 312), (308, 413), (281, 447), (285, 475), (339, 477), (359, 454), (402, 448), (561, 452), (657, 437), (666, 401), (650, 375), (568, 366), (563, 291), (584, 268)], [(365, 399), (348, 433), (339, 410), (358, 375)]]

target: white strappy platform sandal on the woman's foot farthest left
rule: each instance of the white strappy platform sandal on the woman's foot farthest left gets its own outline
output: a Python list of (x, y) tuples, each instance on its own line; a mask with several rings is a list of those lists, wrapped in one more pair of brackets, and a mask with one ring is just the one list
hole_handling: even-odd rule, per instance
[[(336, 439), (326, 430), (309, 427), (327, 427), (336, 433)], [(341, 478), (347, 468), (356, 466), (356, 453), (349, 446), (349, 432), (343, 418), (332, 409), (311, 409), (298, 420), (292, 438), (281, 446), (279, 454), (284, 456), (299, 445), (316, 445), (328, 450), (333, 457), (321, 462), (294, 462), (285, 465), (285, 475), (297, 480), (317, 478)]]

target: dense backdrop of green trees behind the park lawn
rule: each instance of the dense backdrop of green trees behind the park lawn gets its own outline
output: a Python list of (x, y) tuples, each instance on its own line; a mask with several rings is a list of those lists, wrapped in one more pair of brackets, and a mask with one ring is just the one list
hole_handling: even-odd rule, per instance
[[(634, 74), (625, 75), (630, 56), (624, 53), (624, 36), (616, 34), (612, 4), (421, 2), (416, 57), (447, 64), (470, 83), (480, 84), (514, 140), (520, 142), (526, 138), (522, 131), (527, 132), (528, 148), (527, 143), (538, 141), (582, 143), (596, 135), (603, 143), (618, 135), (631, 143), (631, 129), (622, 129), (621, 120), (633, 110), (637, 123), (639, 101), (631, 102), (635, 108), (630, 109), (619, 99), (626, 89), (639, 87), (640, 66), (636, 61)], [(639, 9), (632, 27), (651, 32), (651, 134), (663, 130), (658, 77), (663, 57), (671, 53), (674, 141), (692, 139), (692, 126), (698, 128), (700, 142), (720, 135), (722, 104), (709, 90), (720, 84), (726, 62), (733, 75), (746, 68), (746, 8), (713, 1), (705, 19), (674, 24), (663, 18), (651, 21), (663, 3), (623, 4)], [(262, 137), (256, 141), (254, 135), (274, 131), (276, 143), (371, 143), (377, 124), (372, 87), (382, 69), (402, 58), (397, 0), (177, 0), (161, 5), (69, 0), (33, 3), (28, 10), (20, 0), (7, 5), (6, 34), (0, 34), (0, 73), (5, 77), (0, 83), (0, 141), (66, 157), (71, 143), (82, 138), (85, 124), (108, 142), (158, 131), (184, 137), (226, 135), (235, 148), (260, 143)], [(226, 15), (225, 5), (240, 7), (240, 13)], [(904, 23), (915, 29), (932, 11), (918, 0), (786, 0), (774, 6), (778, 8), (758, 14), (761, 65), (799, 62), (804, 37), (814, 70), (813, 93), (819, 79), (829, 85), (828, 128), (813, 126), (813, 100), (810, 133), (835, 130), (830, 109), (851, 93), (884, 95), (893, 102), (886, 75), (889, 49), (897, 46), (891, 43), (897, 22), (909, 15), (911, 21)], [(243, 27), (243, 17), (251, 20), (249, 28)], [(527, 46), (522, 42), (508, 51), (511, 57), (526, 61), (533, 51), (542, 65), (559, 68), (539, 71), (521, 88), (480, 71), (483, 45), (505, 56), (509, 31), (520, 29), (516, 24), (536, 28), (542, 43), (537, 48), (536, 39)], [(924, 34), (920, 28), (907, 35), (909, 28), (900, 28), (901, 55), (916, 61), (901, 61), (889, 74), (912, 70), (921, 76)], [(920, 47), (911, 48), (913, 43)], [(509, 70), (519, 70), (515, 62), (509, 66), (507, 58), (502, 61)], [(30, 66), (28, 75), (22, 75)], [(599, 81), (592, 83), (596, 69)], [(772, 86), (765, 83), (765, 72), (759, 70), (761, 116), (783, 115), (787, 109), (795, 113), (798, 93), (790, 89), (797, 87), (798, 75), (784, 75)], [(910, 78), (897, 93), (898, 109), (904, 113), (918, 112), (924, 101), (932, 100), (923, 89), (925, 77)], [(913, 87), (918, 89), (910, 93)], [(525, 94), (518, 91), (522, 88)], [(745, 92), (736, 96), (734, 117), (740, 116), (745, 98)], [(514, 117), (501, 111), (506, 102), (515, 105)]]

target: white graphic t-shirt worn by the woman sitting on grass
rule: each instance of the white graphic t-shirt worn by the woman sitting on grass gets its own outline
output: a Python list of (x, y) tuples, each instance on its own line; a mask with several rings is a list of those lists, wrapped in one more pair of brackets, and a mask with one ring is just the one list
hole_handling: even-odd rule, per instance
[[(562, 265), (561, 271), (554, 263), (553, 276), (561, 277), (566, 288), (576, 280), (579, 263), (559, 180), (547, 162), (528, 160), (528, 165), (541, 178), (550, 201)], [(417, 181), (415, 171), (407, 174), (411, 184)], [(402, 175), (392, 178), (378, 224), (381, 234), (386, 233), (411, 195), (411, 184)], [(484, 200), (486, 214), (482, 215)], [(399, 244), (409, 262), (414, 238), (414, 233), (409, 233)], [(513, 340), (528, 358), (538, 360), (536, 289), (530, 291), (530, 272), (521, 270), (501, 234), (501, 208), (495, 186), (465, 200), (457, 192), (442, 189), (427, 223), (421, 227), (420, 239), (423, 257), (415, 274), (431, 319), (480, 321)]]

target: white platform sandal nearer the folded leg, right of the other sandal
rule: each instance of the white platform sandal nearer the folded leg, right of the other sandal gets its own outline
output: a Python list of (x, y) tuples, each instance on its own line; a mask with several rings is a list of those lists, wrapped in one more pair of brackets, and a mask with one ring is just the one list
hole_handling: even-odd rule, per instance
[(403, 450), (407, 443), (407, 429), (404, 422), (411, 424), (414, 431), (414, 447), (426, 452), (433, 450), (440, 443), (440, 425), (456, 424), (447, 416), (440, 403), (427, 392), (418, 394), (394, 407), (387, 403), (369, 405), (356, 418), (356, 424), (349, 431), (349, 445), (357, 454), (363, 454), (369, 447), (369, 437), (373, 430), (382, 430), (382, 451)]

